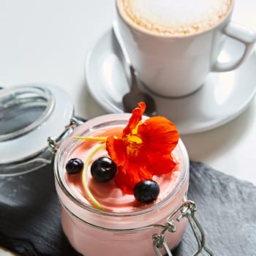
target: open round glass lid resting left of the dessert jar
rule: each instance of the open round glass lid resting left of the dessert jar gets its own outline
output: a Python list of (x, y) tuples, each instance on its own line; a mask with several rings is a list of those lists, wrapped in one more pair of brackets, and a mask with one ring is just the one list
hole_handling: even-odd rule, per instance
[(47, 139), (63, 132), (72, 115), (72, 101), (58, 86), (33, 83), (1, 89), (0, 176), (50, 163)]

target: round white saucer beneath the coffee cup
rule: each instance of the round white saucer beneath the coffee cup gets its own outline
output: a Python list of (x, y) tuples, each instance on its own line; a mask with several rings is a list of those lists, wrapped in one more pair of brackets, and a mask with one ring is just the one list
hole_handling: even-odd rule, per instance
[[(229, 41), (232, 53), (224, 50), (222, 57), (225, 59), (236, 56), (242, 50), (240, 43), (233, 39)], [(116, 49), (116, 39), (109, 30), (86, 56), (89, 91), (99, 105), (110, 113), (123, 112), (121, 98), (129, 91)], [(157, 103), (157, 113), (173, 121), (181, 135), (219, 127), (241, 114), (252, 101), (256, 92), (255, 67), (254, 52), (235, 71), (208, 75), (206, 83), (187, 97), (170, 99), (151, 94)]]

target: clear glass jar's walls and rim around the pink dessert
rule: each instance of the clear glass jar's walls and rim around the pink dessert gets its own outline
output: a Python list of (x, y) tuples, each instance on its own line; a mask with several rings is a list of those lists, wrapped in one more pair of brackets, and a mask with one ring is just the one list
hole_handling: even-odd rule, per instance
[(129, 117), (126, 113), (109, 114), (86, 121), (61, 142), (56, 153), (54, 173), (62, 206), (62, 227), (70, 244), (82, 255), (164, 255), (178, 244), (187, 227), (187, 218), (180, 217), (178, 211), (186, 203), (189, 186), (189, 157), (181, 140), (174, 149), (181, 173), (167, 197), (153, 206), (124, 213), (102, 211), (90, 206), (69, 187), (65, 165), (75, 148), (83, 143), (73, 136), (88, 137), (110, 127), (124, 127)]

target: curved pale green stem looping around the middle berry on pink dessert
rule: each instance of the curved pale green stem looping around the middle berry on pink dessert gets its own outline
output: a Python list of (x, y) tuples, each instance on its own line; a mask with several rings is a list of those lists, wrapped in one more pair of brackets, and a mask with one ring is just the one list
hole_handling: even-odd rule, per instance
[(89, 187), (87, 186), (87, 182), (86, 182), (86, 173), (87, 173), (91, 158), (94, 156), (94, 154), (97, 153), (97, 151), (99, 151), (100, 149), (102, 149), (104, 147), (105, 147), (105, 143), (100, 144), (99, 146), (97, 146), (97, 148), (95, 148), (93, 151), (91, 151), (91, 153), (89, 154), (89, 156), (86, 159), (86, 162), (84, 162), (83, 173), (82, 173), (82, 184), (83, 184), (83, 188), (86, 191), (86, 195), (89, 197), (89, 199), (91, 200), (91, 203), (95, 206), (95, 208), (98, 208), (99, 210), (103, 210), (103, 207), (91, 194), (91, 191), (90, 191)]

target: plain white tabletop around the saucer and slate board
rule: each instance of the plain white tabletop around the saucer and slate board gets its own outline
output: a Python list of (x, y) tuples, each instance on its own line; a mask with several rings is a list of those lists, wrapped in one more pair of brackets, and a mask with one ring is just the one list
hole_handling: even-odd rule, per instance
[[(233, 20), (256, 31), (255, 13), (255, 0), (236, 0)], [(0, 0), (0, 85), (53, 83), (78, 116), (105, 113), (86, 89), (84, 59), (114, 17), (114, 0)], [(181, 138), (192, 160), (256, 185), (256, 99), (222, 127)]]

